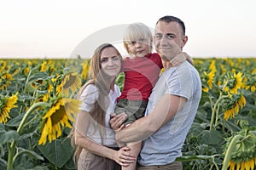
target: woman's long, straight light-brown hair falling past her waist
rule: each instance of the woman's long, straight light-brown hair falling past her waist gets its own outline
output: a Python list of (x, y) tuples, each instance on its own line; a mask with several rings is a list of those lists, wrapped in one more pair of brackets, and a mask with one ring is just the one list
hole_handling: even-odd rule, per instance
[[(104, 71), (102, 71), (102, 65), (101, 65), (101, 56), (102, 56), (102, 51), (105, 48), (114, 48), (119, 55), (119, 59), (121, 62), (121, 54), (119, 54), (119, 51), (117, 48), (115, 48), (112, 44), (110, 43), (104, 43), (100, 45), (98, 48), (96, 48), (93, 56), (91, 57), (90, 60), (90, 71), (89, 71), (89, 77), (90, 80), (87, 81), (82, 88), (80, 88), (79, 93), (77, 94), (77, 99), (80, 99), (81, 94), (83, 93), (84, 89), (90, 85), (94, 84), (96, 88), (99, 90), (99, 96), (96, 102), (93, 104), (93, 110), (90, 111), (90, 116), (96, 122), (99, 126), (96, 126), (95, 129), (98, 129), (100, 134), (101, 134), (101, 139), (103, 141), (104, 136), (105, 136), (105, 128), (101, 127), (106, 127), (105, 125), (105, 115), (106, 111), (108, 109), (108, 94), (110, 92), (110, 87), (113, 85), (115, 79), (113, 80), (110, 78)], [(86, 97), (85, 97), (86, 99)], [(76, 146), (74, 144), (74, 131), (75, 131), (75, 126), (73, 126), (72, 131), (69, 134), (69, 137), (72, 139), (72, 144), (76, 148), (75, 153), (74, 153), (74, 161), (77, 161), (79, 159), (79, 155), (82, 151), (82, 147)]]

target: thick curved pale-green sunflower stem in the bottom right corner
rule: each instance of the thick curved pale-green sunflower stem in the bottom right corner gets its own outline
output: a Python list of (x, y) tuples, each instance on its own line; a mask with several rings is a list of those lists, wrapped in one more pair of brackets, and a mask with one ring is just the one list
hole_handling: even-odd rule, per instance
[(231, 155), (233, 151), (235, 150), (236, 143), (239, 139), (241, 139), (243, 136), (241, 134), (237, 134), (230, 142), (230, 145), (228, 147), (227, 153), (225, 154), (224, 161), (223, 161), (223, 167), (222, 170), (226, 170), (229, 166), (229, 161), (231, 159)]

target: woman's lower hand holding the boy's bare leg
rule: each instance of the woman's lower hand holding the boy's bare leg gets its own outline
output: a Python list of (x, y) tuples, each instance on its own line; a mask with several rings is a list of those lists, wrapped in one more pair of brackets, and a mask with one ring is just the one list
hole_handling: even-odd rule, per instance
[(131, 156), (129, 152), (130, 148), (127, 146), (121, 148), (120, 150), (116, 151), (116, 154), (114, 156), (114, 161), (119, 163), (120, 166), (122, 167), (127, 167), (134, 161), (137, 161), (136, 156)]

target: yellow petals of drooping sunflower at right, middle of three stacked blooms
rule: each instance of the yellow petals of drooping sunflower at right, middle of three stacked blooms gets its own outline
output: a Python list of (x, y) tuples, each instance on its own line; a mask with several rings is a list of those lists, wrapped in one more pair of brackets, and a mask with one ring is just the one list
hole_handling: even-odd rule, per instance
[(228, 120), (229, 118), (233, 118), (236, 114), (238, 114), (239, 109), (242, 109), (246, 105), (247, 101), (243, 95), (239, 99), (237, 99), (229, 110), (224, 112), (224, 120)]

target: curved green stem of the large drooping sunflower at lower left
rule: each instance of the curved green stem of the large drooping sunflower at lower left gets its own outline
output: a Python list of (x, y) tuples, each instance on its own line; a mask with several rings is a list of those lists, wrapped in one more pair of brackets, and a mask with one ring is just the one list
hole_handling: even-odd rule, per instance
[[(23, 116), (21, 122), (20, 122), (20, 126), (17, 129), (17, 133), (20, 134), (22, 128), (24, 127), (27, 118), (30, 116), (30, 114), (32, 113), (32, 111), (34, 111), (36, 108), (40, 107), (40, 106), (49, 106), (48, 103), (45, 102), (38, 102), (34, 105), (31, 106), (31, 108), (29, 108), (28, 111), (26, 111), (25, 115)], [(7, 165), (7, 170), (12, 170), (13, 169), (13, 163), (15, 161), (14, 159), (14, 155), (15, 155), (15, 150), (16, 150), (16, 144), (17, 141), (14, 140), (8, 147), (9, 150), (9, 155), (8, 155), (8, 165)]]

